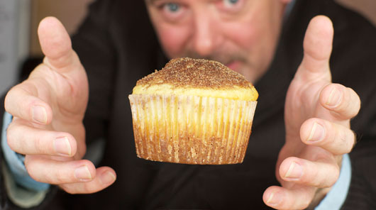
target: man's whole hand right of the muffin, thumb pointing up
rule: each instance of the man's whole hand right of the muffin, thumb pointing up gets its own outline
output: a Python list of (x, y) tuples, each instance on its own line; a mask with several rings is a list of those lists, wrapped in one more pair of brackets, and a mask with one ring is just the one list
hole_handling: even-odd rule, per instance
[(287, 92), (286, 143), (276, 167), (282, 187), (268, 187), (263, 195), (265, 204), (275, 209), (317, 204), (338, 179), (342, 155), (355, 143), (350, 118), (358, 114), (360, 99), (353, 89), (331, 83), (332, 43), (330, 19), (313, 18), (302, 64)]

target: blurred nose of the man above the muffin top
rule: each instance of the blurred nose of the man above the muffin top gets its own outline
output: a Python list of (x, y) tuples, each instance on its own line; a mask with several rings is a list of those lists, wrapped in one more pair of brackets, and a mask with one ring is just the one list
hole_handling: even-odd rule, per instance
[(194, 18), (193, 48), (200, 57), (207, 57), (216, 49), (219, 42), (219, 30), (215, 21), (205, 11)]

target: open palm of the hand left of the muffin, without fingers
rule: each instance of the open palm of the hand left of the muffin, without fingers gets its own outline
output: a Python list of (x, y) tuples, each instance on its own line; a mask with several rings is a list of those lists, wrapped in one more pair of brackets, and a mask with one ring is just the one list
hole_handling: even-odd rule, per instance
[[(76, 56), (76, 55), (74, 55)], [(82, 65), (77, 62), (70, 66), (68, 74), (56, 71), (45, 59), (32, 73), (29, 79), (44, 78), (48, 83), (33, 83), (38, 89), (38, 97), (50, 104), (52, 121), (43, 126), (50, 131), (63, 131), (71, 133), (77, 140), (77, 153), (75, 160), (79, 160), (85, 153), (85, 132), (82, 124), (84, 111), (87, 107), (88, 82)], [(74, 72), (74, 75), (69, 74)], [(42, 126), (39, 126), (42, 127)], [(60, 157), (70, 160), (69, 157)]]

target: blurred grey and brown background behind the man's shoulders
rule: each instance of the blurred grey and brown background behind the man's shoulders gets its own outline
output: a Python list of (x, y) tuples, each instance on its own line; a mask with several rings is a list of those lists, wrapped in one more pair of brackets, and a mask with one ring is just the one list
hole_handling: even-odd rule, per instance
[[(40, 20), (45, 16), (55, 16), (72, 34), (92, 1), (0, 0), (0, 95), (18, 81), (22, 71), (35, 67), (43, 57), (37, 35)], [(376, 23), (376, 0), (336, 1)]]

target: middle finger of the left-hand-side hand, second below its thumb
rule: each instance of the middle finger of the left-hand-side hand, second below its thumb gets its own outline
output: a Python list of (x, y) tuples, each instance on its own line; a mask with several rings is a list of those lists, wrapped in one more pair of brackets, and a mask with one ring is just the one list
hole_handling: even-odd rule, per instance
[(6, 132), (9, 147), (24, 155), (59, 155), (72, 157), (77, 151), (70, 133), (33, 128), (21, 118), (14, 118)]

